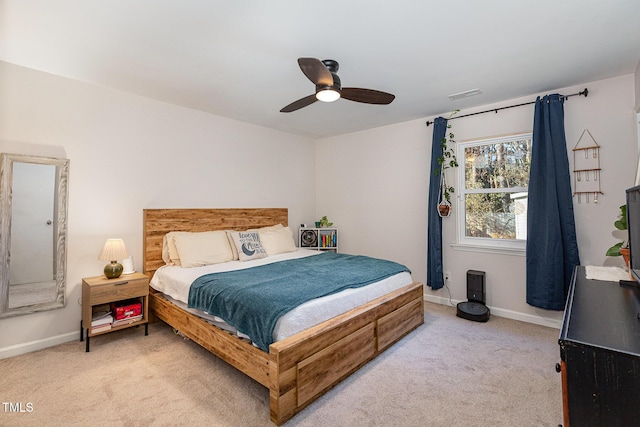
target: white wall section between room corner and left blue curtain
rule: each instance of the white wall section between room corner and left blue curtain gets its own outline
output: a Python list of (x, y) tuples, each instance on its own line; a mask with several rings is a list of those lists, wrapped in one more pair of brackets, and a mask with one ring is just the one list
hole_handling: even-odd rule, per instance
[(327, 215), (339, 229), (340, 251), (401, 262), (423, 283), (431, 153), (425, 120), (327, 138), (316, 148), (316, 216)]

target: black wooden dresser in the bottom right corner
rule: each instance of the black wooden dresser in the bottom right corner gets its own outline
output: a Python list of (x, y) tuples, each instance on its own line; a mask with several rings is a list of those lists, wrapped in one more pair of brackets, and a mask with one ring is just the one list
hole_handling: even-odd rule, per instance
[(560, 330), (565, 427), (640, 425), (640, 290), (579, 266)]

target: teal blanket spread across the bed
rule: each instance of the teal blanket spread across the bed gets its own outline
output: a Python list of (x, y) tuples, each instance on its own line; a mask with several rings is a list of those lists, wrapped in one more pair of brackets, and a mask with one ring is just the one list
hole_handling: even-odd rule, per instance
[(288, 311), (403, 271), (410, 272), (392, 261), (326, 252), (198, 277), (189, 290), (189, 307), (224, 319), (268, 352), (276, 322)]

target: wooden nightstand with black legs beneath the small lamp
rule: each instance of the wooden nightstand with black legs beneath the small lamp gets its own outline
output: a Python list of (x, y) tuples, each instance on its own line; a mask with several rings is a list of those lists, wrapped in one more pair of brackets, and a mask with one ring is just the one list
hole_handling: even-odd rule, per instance
[[(138, 300), (142, 304), (142, 318), (129, 322), (117, 323), (107, 328), (91, 327), (96, 306), (117, 303), (126, 300)], [(87, 340), (86, 351), (89, 351), (90, 338), (132, 326), (144, 325), (144, 334), (149, 334), (149, 278), (142, 273), (123, 274), (117, 279), (105, 276), (82, 279), (82, 322), (80, 324), (80, 341)]]

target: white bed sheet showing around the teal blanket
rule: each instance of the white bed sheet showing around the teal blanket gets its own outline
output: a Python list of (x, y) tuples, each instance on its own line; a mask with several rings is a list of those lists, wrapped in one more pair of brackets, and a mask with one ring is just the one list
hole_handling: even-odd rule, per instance
[[(168, 295), (171, 299), (184, 304), (184, 308), (189, 300), (189, 287), (191, 286), (191, 283), (204, 274), (251, 268), (258, 265), (265, 265), (288, 259), (314, 256), (319, 253), (320, 252), (318, 251), (309, 249), (298, 249), (295, 252), (278, 254), (267, 258), (244, 262), (230, 261), (221, 264), (193, 268), (163, 266), (156, 270), (156, 273), (151, 279), (150, 285), (157, 291)], [(314, 325), (322, 323), (325, 320), (329, 320), (332, 317), (381, 297), (382, 295), (388, 294), (396, 289), (400, 289), (412, 282), (411, 274), (403, 272), (364, 287), (346, 289), (342, 292), (308, 301), (278, 319), (273, 331), (273, 339), (274, 341), (279, 341), (294, 335)], [(203, 317), (208, 318), (208, 320), (213, 321), (214, 323), (222, 320), (220, 318), (211, 318), (211, 315), (208, 313), (198, 313), (198, 310), (189, 309), (189, 311), (192, 313), (195, 312), (196, 314), (202, 314)], [(246, 337), (246, 335), (244, 336)]]

